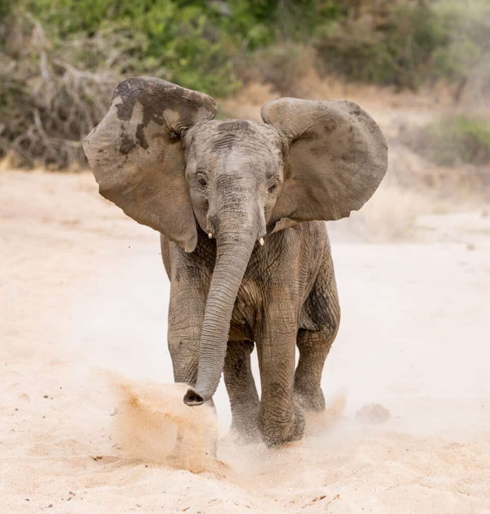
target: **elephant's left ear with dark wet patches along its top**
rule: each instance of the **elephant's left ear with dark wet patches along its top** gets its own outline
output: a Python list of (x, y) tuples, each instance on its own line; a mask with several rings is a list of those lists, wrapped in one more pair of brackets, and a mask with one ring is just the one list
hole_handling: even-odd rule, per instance
[(121, 82), (109, 112), (83, 142), (100, 194), (193, 251), (197, 229), (182, 137), (215, 114), (215, 101), (198, 91), (152, 77)]

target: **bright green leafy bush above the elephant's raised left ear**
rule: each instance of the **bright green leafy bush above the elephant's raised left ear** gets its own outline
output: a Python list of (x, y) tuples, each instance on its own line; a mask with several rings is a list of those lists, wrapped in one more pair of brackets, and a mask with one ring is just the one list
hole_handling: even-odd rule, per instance
[[(116, 64), (123, 75), (154, 75), (217, 96), (240, 85), (230, 64), (233, 44), (219, 30), (216, 9), (205, 2), (27, 0), (26, 7), (55, 46), (96, 37), (108, 45), (120, 42), (127, 62)], [(95, 64), (106, 65), (102, 60)]]

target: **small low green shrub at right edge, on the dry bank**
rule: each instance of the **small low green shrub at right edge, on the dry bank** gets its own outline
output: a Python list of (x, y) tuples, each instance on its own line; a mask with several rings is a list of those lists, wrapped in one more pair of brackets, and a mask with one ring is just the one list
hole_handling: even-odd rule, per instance
[(429, 123), (405, 141), (442, 166), (490, 163), (490, 122), (482, 119), (446, 117)]

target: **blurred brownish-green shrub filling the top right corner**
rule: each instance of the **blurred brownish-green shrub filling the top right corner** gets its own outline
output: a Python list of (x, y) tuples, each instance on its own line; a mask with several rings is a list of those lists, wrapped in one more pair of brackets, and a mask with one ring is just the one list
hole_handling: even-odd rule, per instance
[(444, 79), (457, 84), (458, 97), (475, 68), (490, 68), (487, 0), (364, 4), (357, 16), (347, 11), (317, 27), (313, 42), (325, 72), (398, 89)]

